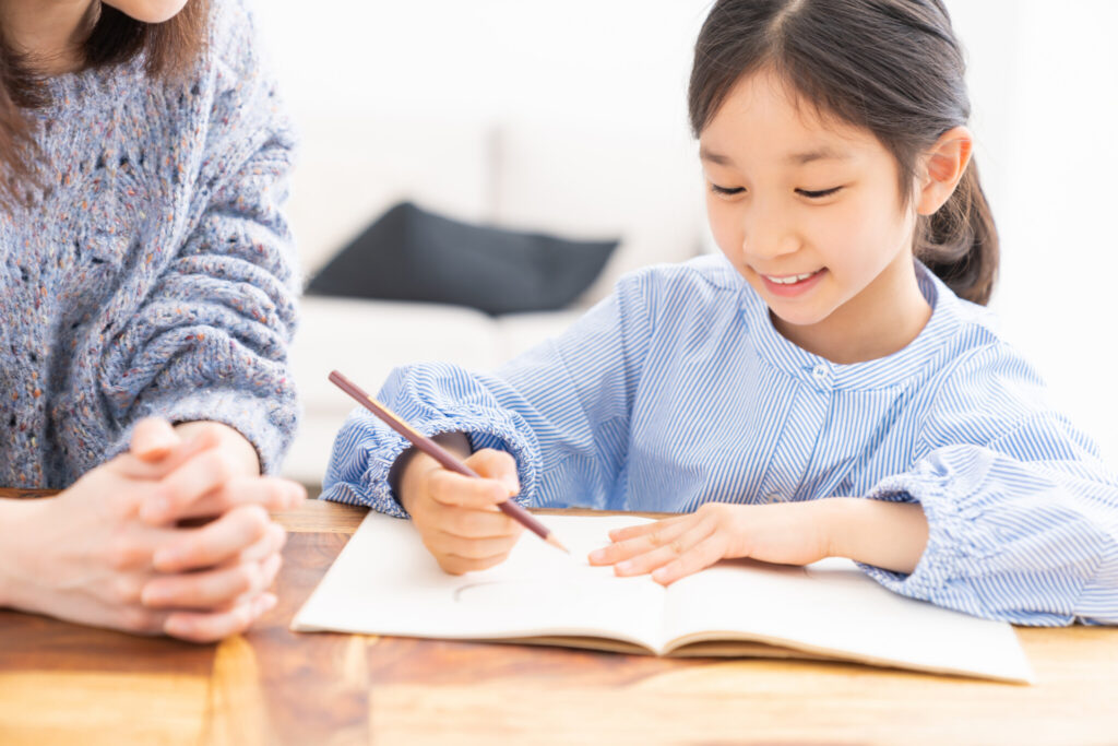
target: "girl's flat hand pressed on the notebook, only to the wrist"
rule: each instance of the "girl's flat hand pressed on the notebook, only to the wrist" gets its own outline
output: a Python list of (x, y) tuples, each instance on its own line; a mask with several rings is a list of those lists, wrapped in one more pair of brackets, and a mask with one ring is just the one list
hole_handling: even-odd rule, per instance
[(686, 516), (610, 531), (613, 544), (589, 561), (614, 565), (622, 576), (652, 573), (662, 585), (735, 557), (808, 565), (832, 555), (826, 502), (708, 502)]

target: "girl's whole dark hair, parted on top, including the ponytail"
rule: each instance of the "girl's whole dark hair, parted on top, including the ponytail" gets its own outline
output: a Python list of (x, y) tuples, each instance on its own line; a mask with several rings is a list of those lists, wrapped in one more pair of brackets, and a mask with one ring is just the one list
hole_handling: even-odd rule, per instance
[[(921, 152), (970, 115), (966, 63), (941, 0), (718, 0), (695, 44), (688, 104), (695, 136), (743, 76), (771, 69), (822, 114), (870, 130), (912, 198)], [(913, 252), (957, 295), (987, 303), (994, 217), (974, 160)]]

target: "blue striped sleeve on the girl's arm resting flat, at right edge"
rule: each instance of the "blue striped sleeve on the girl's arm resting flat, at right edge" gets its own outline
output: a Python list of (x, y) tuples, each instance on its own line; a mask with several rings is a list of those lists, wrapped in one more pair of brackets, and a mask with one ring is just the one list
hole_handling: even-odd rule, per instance
[(923, 454), (870, 493), (918, 502), (928, 544), (897, 593), (1038, 626), (1118, 624), (1118, 478), (1004, 346), (978, 350), (938, 395)]

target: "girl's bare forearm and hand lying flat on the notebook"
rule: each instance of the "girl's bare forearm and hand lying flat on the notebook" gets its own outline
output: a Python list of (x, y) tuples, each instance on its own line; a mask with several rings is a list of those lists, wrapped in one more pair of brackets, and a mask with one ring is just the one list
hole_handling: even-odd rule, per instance
[(719, 559), (750, 557), (809, 565), (849, 557), (896, 573), (912, 573), (928, 544), (928, 520), (918, 503), (863, 498), (741, 506), (708, 502), (686, 516), (609, 532), (591, 565), (617, 575), (652, 573), (669, 585)]

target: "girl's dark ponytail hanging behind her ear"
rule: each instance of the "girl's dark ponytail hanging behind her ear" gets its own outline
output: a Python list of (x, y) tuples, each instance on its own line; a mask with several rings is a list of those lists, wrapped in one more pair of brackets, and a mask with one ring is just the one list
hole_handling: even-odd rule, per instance
[(920, 219), (915, 254), (959, 298), (989, 302), (997, 277), (997, 227), (974, 160), (947, 204)]

